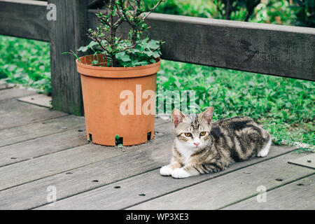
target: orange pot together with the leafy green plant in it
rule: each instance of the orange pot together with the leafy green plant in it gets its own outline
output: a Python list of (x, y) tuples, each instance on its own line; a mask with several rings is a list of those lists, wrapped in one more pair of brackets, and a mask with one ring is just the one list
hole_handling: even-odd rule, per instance
[[(145, 20), (162, 2), (144, 8), (141, 0), (111, 0), (99, 25), (88, 29), (92, 40), (76, 59), (80, 73), (87, 139), (106, 146), (131, 146), (153, 139), (156, 76), (162, 41), (143, 38)], [(127, 38), (117, 29), (130, 26)]]

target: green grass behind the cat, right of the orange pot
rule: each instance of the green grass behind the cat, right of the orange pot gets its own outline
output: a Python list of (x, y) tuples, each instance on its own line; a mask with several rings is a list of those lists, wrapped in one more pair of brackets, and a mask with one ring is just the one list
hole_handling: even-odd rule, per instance
[(315, 145), (315, 83), (162, 61), (158, 89), (195, 90), (197, 111), (214, 106), (214, 119), (249, 116), (278, 139)]

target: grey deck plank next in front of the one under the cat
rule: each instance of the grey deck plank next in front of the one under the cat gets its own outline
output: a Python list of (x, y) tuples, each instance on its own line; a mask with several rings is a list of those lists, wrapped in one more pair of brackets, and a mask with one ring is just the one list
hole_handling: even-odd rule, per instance
[(299, 156), (301, 155), (296, 153), (282, 155), (232, 174), (158, 197), (130, 209), (220, 209), (233, 202), (257, 195), (259, 186), (267, 190), (279, 188), (296, 179), (315, 174), (311, 169), (288, 165), (288, 160)]

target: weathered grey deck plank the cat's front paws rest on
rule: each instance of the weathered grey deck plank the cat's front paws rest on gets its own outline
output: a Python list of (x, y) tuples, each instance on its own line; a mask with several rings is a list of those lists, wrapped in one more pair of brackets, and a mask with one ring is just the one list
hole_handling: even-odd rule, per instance
[[(162, 163), (158, 165), (166, 165), (167, 162), (169, 162), (169, 158), (165, 156), (167, 155), (167, 150), (168, 149), (163, 149), (160, 146), (159, 149), (151, 155), (150, 159), (157, 160), (160, 158)], [(146, 202), (155, 197), (160, 197), (161, 195), (166, 195), (176, 190), (187, 188), (188, 186), (193, 186), (209, 179), (214, 179), (217, 176), (229, 174), (237, 169), (268, 160), (269, 158), (287, 153), (291, 150), (292, 148), (276, 147), (273, 148), (267, 158), (254, 158), (246, 162), (238, 162), (223, 172), (193, 176), (189, 179), (172, 179), (172, 177), (160, 176), (159, 170), (155, 169), (152, 172), (146, 172), (102, 188), (90, 190), (87, 193), (60, 200), (55, 203), (54, 207), (46, 206), (41, 209), (125, 209), (134, 204)], [(248, 169), (250, 169), (250, 167), (248, 167)], [(114, 188), (115, 186), (120, 186), (120, 188)], [(141, 194), (145, 194), (145, 196), (139, 196)], [(119, 197), (117, 197), (117, 195), (119, 195)], [(98, 199), (95, 200), (95, 198)]]

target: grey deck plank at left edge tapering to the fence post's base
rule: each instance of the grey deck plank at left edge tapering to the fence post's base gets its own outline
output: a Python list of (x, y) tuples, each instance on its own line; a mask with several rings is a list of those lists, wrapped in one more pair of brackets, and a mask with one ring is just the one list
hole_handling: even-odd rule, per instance
[(66, 115), (60, 111), (52, 111), (12, 99), (0, 103), (0, 130)]

